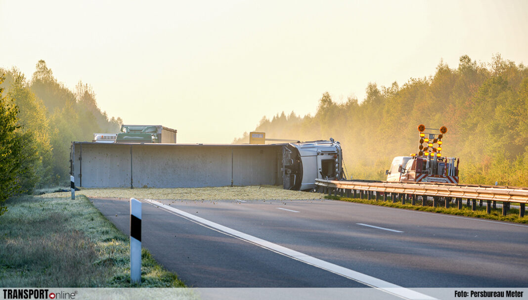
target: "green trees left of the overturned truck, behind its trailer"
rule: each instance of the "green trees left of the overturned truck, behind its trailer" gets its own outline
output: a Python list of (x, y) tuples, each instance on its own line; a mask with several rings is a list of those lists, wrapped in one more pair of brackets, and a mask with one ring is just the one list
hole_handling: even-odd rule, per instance
[(122, 120), (101, 112), (89, 84), (70, 90), (43, 60), (31, 79), (16, 67), (0, 69), (0, 76), (0, 202), (66, 183), (71, 142), (120, 129)]

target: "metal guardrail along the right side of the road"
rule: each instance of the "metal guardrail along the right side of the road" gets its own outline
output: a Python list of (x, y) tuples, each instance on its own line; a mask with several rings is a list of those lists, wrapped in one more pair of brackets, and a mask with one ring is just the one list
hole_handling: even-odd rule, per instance
[(387, 201), (388, 193), (396, 202), (398, 197), (402, 203), (406, 200), (411, 200), (414, 205), (418, 197), (421, 196), (422, 204), (425, 204), (427, 197), (433, 197), (433, 206), (438, 205), (438, 201), (444, 200), (445, 207), (449, 207), (449, 202), (455, 198), (458, 208), (461, 208), (462, 199), (473, 201), (472, 209), (476, 210), (476, 200), (487, 201), (487, 212), (491, 212), (496, 207), (496, 201), (503, 202), (503, 215), (506, 215), (510, 203), (520, 204), (520, 216), (524, 216), (525, 205), (528, 203), (528, 188), (510, 188), (510, 187), (494, 187), (494, 186), (463, 186), (463, 185), (445, 185), (434, 183), (402, 183), (402, 182), (364, 182), (364, 181), (337, 181), (337, 180), (323, 180), (316, 179), (316, 185), (323, 187), (329, 194), (332, 192), (337, 196), (339, 192), (341, 196), (356, 197), (356, 191), (360, 191), (360, 197), (363, 198), (365, 191), (367, 199), (372, 199), (373, 192), (376, 192), (376, 200), (380, 200), (380, 192), (383, 193), (383, 200)]

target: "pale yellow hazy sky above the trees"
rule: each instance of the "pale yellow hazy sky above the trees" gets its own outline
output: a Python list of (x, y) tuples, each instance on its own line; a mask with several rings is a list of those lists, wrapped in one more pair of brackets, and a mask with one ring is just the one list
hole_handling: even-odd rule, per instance
[[(0, 67), (45, 60), (128, 124), (229, 143), (260, 119), (314, 114), (461, 55), (528, 64), (528, 1), (0, 0)], [(328, 138), (328, 137), (321, 137)]]

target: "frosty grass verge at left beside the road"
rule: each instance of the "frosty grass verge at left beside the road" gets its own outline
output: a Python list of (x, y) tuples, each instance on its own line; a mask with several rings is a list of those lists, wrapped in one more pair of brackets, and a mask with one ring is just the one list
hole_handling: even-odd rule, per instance
[(0, 216), (0, 286), (184, 286), (146, 249), (142, 283), (130, 284), (129, 237), (84, 196), (24, 196), (6, 204)]

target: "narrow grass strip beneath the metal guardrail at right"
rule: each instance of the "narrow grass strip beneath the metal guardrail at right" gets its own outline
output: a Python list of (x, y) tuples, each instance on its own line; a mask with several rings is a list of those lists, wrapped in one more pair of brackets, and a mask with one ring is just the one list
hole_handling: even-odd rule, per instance
[(479, 207), (477, 204), (476, 210), (473, 211), (471, 210), (470, 207), (467, 207), (465, 205), (465, 202), (463, 202), (462, 209), (458, 209), (456, 205), (453, 203), (450, 204), (449, 208), (445, 208), (443, 206), (442, 207), (421, 206), (418, 204), (418, 201), (417, 201), (417, 205), (411, 205), (411, 204), (401, 204), (401, 202), (393, 203), (392, 200), (384, 202), (384, 201), (375, 201), (375, 200), (366, 200), (366, 199), (357, 199), (357, 198), (346, 198), (346, 197), (331, 196), (331, 195), (326, 195), (325, 198), (333, 199), (333, 200), (348, 201), (348, 202), (357, 202), (357, 203), (363, 203), (363, 204), (411, 209), (411, 210), (438, 212), (440, 214), (466, 216), (466, 217), (483, 218), (483, 219), (528, 224), (528, 216), (524, 216), (522, 218), (519, 217), (519, 210), (516, 208), (509, 209), (508, 214), (506, 216), (503, 216), (502, 208), (501, 209), (492, 208), (491, 213), (487, 214), (485, 206)]

